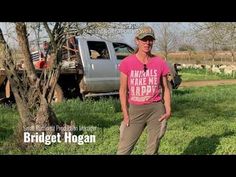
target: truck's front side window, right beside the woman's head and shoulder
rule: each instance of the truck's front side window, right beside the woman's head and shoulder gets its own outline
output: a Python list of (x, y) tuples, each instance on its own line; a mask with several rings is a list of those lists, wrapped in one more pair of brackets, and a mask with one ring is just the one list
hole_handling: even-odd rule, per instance
[(122, 60), (130, 54), (134, 53), (134, 49), (127, 44), (113, 42), (116, 58)]

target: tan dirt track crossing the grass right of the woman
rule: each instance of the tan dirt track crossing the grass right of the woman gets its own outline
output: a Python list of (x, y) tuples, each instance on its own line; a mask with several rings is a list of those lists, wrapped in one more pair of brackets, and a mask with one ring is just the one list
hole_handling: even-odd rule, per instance
[(203, 87), (203, 86), (218, 86), (218, 85), (233, 85), (233, 84), (236, 84), (236, 79), (182, 82), (179, 87), (186, 88), (186, 87)]

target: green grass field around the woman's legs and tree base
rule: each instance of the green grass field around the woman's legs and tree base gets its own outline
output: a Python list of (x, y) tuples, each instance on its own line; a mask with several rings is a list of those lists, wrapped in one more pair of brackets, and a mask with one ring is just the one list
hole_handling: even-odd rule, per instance
[[(179, 89), (173, 92), (173, 115), (160, 145), (160, 154), (236, 154), (236, 86)], [(117, 98), (68, 100), (54, 106), (61, 121), (78, 127), (93, 126), (96, 143), (56, 143), (42, 149), (21, 151), (13, 146), (19, 119), (15, 107), (0, 105), (0, 154), (115, 154), (121, 122)], [(143, 154), (146, 131), (133, 154)]]

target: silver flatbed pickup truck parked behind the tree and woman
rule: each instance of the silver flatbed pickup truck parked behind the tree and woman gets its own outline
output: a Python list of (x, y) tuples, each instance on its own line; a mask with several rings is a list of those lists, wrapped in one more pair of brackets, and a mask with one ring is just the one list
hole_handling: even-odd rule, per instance
[[(70, 55), (63, 53), (62, 70), (54, 93), (54, 101), (64, 98), (118, 94), (118, 65), (123, 58), (134, 52), (134, 49), (122, 42), (111, 42), (99, 39), (76, 37), (79, 52)], [(171, 68), (170, 85), (177, 88), (181, 78), (174, 65)], [(38, 68), (40, 73), (43, 68)], [(20, 72), (20, 71), (19, 71)], [(10, 98), (10, 84), (4, 70), (0, 70), (0, 99)]]

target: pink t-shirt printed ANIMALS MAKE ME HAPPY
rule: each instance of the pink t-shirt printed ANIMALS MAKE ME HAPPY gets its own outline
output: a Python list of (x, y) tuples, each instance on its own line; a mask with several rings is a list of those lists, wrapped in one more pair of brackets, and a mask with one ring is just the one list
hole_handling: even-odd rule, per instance
[(130, 55), (121, 61), (119, 70), (128, 77), (129, 103), (149, 104), (161, 100), (160, 78), (167, 75), (169, 67), (160, 57), (152, 57), (146, 64), (141, 63), (136, 55)]

